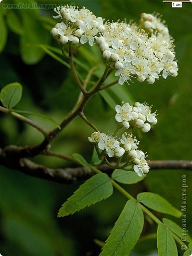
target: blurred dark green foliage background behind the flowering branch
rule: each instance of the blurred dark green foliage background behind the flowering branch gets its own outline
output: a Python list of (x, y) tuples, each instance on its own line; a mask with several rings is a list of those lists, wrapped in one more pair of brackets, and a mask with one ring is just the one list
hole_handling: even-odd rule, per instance
[[(78, 89), (69, 69), (45, 54), (40, 44), (58, 45), (50, 36), (57, 23), (52, 9), (3, 9), (5, 3), (21, 1), (3, 0), (0, 4), (0, 89), (6, 84), (19, 82), (23, 97), (18, 109), (46, 114), (58, 123), (76, 102)], [(32, 1), (22, 1), (33, 3)], [(64, 0), (37, 1), (42, 4), (70, 4)], [(158, 110), (158, 123), (154, 130), (140, 136), (140, 146), (149, 159), (191, 159), (192, 152), (192, 101), (191, 101), (191, 4), (172, 8), (163, 0), (107, 0), (78, 1), (95, 15), (110, 20), (139, 21), (140, 13), (158, 12), (163, 15), (170, 34), (175, 39), (175, 52), (179, 64), (178, 77), (160, 78), (154, 85), (134, 81), (130, 86), (115, 85), (108, 89), (108, 97), (116, 103), (146, 101)], [(58, 47), (59, 49), (59, 47)], [(76, 55), (86, 67), (100, 60), (97, 50), (83, 47)], [(78, 66), (82, 77), (86, 70)], [(102, 66), (98, 70), (98, 74)], [(95, 95), (85, 114), (103, 132), (113, 131), (114, 111), (106, 103), (106, 95)], [(45, 129), (53, 126), (36, 117)], [(80, 118), (67, 127), (59, 139), (53, 141), (52, 150), (64, 154), (80, 153), (90, 161), (91, 143), (87, 137), (92, 130)], [(0, 113), (0, 146), (27, 145), (41, 142), (42, 135), (10, 116)], [(37, 163), (62, 167), (68, 163), (61, 159), (38, 156)], [(99, 246), (93, 241), (105, 241), (126, 199), (119, 193), (105, 201), (62, 219), (57, 218), (63, 202), (73, 194), (79, 183), (60, 185), (50, 181), (27, 177), (17, 171), (0, 166), (0, 252), (2, 255), (26, 256), (78, 256), (98, 255)], [(157, 193), (180, 209), (182, 204), (182, 175), (187, 175), (187, 228), (192, 231), (191, 173), (185, 170), (151, 170), (147, 178), (137, 185), (124, 186), (133, 196), (143, 191)], [(159, 218), (165, 214), (157, 213)], [(166, 217), (166, 216), (165, 216)], [(170, 217), (169, 217), (170, 218)], [(182, 219), (171, 218), (180, 226)], [(143, 237), (132, 255), (156, 255), (156, 225), (145, 223)], [(148, 235), (148, 237), (147, 237)], [(180, 255), (182, 252), (180, 251)]]

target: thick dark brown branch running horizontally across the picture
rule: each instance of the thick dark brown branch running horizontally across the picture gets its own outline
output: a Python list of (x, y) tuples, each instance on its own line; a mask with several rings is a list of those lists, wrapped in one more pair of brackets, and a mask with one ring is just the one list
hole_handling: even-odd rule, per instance
[[(0, 165), (13, 170), (18, 170), (33, 177), (56, 181), (60, 183), (73, 183), (77, 180), (88, 179), (93, 173), (84, 167), (65, 167), (52, 169), (44, 165), (35, 164), (25, 158), (28, 155), (28, 147), (7, 146), (0, 148)], [(30, 150), (29, 150), (30, 151)], [(183, 169), (192, 170), (192, 161), (150, 161), (148, 162), (152, 170), (155, 169)], [(106, 164), (97, 166), (100, 171), (111, 174), (113, 169)]]

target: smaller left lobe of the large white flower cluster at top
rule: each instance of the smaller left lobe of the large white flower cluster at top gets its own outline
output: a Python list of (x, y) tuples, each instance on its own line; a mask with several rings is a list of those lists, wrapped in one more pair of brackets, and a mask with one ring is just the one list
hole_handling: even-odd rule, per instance
[(54, 11), (58, 15), (53, 17), (62, 18), (63, 22), (57, 23), (51, 34), (59, 39), (61, 45), (70, 41), (72, 44), (89, 42), (90, 46), (93, 46), (95, 36), (105, 29), (103, 19), (97, 18), (85, 7), (79, 10), (77, 6), (66, 5), (59, 6)]

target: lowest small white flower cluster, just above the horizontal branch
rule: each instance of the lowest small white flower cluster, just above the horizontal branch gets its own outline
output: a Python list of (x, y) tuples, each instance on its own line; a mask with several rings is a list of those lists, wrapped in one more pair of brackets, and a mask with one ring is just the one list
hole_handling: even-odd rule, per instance
[(122, 137), (116, 140), (113, 136), (105, 133), (93, 132), (88, 138), (90, 142), (98, 145), (98, 148), (105, 150), (109, 157), (122, 157), (126, 154), (127, 164), (133, 165), (133, 170), (139, 176), (149, 172), (149, 165), (146, 161), (146, 155), (141, 150), (138, 150), (139, 141), (133, 137), (133, 134), (124, 132)]

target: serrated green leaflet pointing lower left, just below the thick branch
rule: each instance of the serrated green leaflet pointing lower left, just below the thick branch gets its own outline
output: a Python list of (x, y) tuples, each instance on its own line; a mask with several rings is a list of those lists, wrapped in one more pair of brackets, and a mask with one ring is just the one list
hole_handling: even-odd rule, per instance
[(58, 217), (73, 214), (86, 206), (100, 202), (113, 194), (113, 185), (106, 173), (98, 173), (79, 187), (73, 196), (69, 197), (61, 209)]

